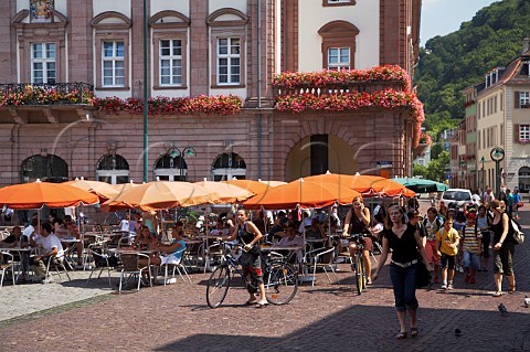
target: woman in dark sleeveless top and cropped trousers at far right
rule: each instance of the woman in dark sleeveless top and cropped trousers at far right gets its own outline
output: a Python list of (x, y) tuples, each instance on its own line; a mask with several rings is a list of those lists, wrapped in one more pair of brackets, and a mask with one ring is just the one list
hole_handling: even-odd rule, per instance
[(502, 296), (502, 274), (510, 282), (508, 294), (516, 291), (516, 277), (513, 276), (513, 252), (515, 244), (508, 234), (510, 230), (510, 218), (505, 210), (500, 206), (498, 200), (489, 203), (489, 209), (494, 212), (490, 230), (494, 233), (494, 274), (496, 291), (494, 297)]

